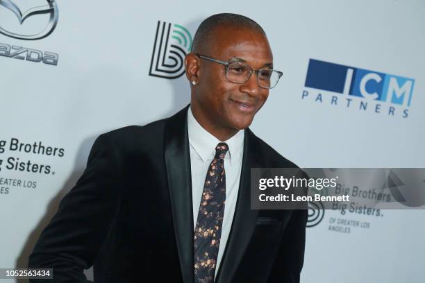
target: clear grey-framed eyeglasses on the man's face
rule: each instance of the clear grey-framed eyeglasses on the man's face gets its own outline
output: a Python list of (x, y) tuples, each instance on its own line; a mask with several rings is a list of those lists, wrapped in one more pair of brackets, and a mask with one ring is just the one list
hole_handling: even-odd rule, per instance
[(254, 70), (245, 62), (226, 62), (201, 54), (197, 54), (197, 56), (224, 65), (226, 67), (226, 78), (233, 83), (246, 83), (251, 77), (251, 74), (255, 73), (258, 86), (271, 89), (276, 87), (279, 79), (283, 75), (281, 71), (276, 71), (274, 69)]

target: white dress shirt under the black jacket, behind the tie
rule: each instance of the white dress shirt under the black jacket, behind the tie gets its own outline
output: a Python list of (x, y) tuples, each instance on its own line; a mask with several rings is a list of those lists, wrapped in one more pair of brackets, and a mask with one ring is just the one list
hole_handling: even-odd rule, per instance
[(226, 141), (219, 141), (207, 132), (194, 118), (191, 108), (188, 110), (188, 135), (190, 144), (190, 169), (192, 172), (192, 203), (193, 227), (196, 228), (199, 204), (203, 191), (206, 173), (214, 159), (215, 146), (219, 142), (228, 145), (228, 152), (224, 157), (224, 170), (226, 172), (226, 203), (222, 224), (222, 237), (220, 239), (215, 276), (222, 261), (224, 248), (231, 230), (233, 214), (235, 214), (236, 200), (238, 199), (240, 171), (242, 169), (242, 155), (244, 152), (244, 130)]

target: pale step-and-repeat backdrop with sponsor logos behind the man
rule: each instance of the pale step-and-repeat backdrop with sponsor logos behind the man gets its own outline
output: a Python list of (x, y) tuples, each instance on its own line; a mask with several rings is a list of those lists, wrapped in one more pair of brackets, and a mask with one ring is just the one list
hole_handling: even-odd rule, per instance
[[(283, 77), (251, 129), (279, 153), (425, 167), (424, 1), (0, 0), (0, 268), (26, 266), (99, 134), (189, 103), (183, 58), (217, 12), (269, 37)], [(424, 282), (424, 216), (310, 209), (301, 281)]]

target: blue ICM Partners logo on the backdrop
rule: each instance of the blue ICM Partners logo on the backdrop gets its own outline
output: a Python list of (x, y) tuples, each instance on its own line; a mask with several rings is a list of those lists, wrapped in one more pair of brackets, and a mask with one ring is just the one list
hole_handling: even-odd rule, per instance
[[(412, 78), (310, 59), (305, 87), (338, 93), (331, 96), (331, 105), (339, 103), (347, 108), (371, 109), (392, 116), (399, 112), (406, 118), (414, 84)], [(308, 90), (304, 90), (301, 98), (309, 97)], [(321, 93), (314, 98), (323, 103)]]

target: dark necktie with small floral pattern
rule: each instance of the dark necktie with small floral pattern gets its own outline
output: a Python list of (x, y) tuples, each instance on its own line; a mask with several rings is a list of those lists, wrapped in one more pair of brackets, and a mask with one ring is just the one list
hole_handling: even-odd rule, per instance
[(224, 142), (217, 144), (214, 159), (208, 167), (205, 178), (194, 231), (195, 283), (214, 282), (226, 202), (224, 156), (227, 151), (227, 144)]

